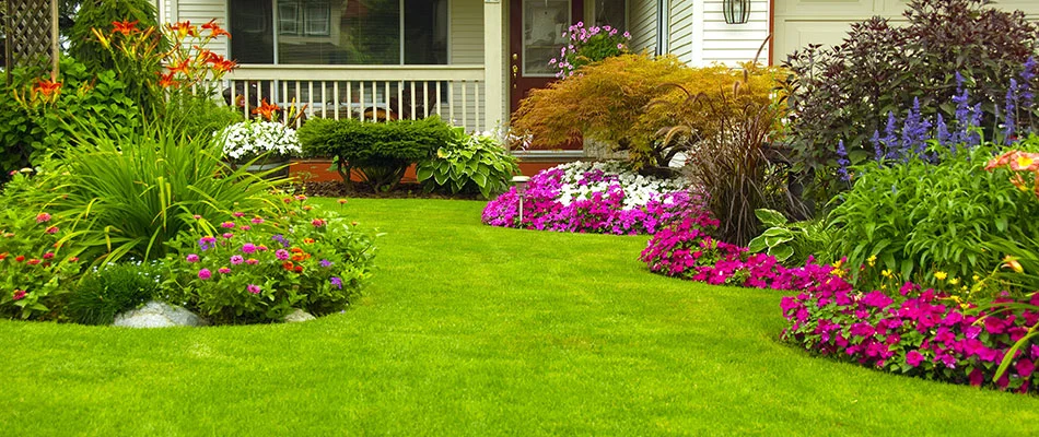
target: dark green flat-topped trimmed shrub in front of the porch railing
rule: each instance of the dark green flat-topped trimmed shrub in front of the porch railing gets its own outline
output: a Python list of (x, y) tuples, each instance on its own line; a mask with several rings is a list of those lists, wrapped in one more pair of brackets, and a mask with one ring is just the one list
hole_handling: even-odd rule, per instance
[(355, 170), (376, 192), (393, 189), (408, 166), (451, 141), (451, 127), (436, 117), (386, 122), (312, 119), (297, 135), (308, 156), (332, 156), (348, 185)]

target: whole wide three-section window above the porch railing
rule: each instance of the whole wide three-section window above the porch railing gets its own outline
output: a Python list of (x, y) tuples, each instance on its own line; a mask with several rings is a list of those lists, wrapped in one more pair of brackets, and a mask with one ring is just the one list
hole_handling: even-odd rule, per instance
[(240, 63), (444, 64), (448, 1), (229, 0), (231, 56)]

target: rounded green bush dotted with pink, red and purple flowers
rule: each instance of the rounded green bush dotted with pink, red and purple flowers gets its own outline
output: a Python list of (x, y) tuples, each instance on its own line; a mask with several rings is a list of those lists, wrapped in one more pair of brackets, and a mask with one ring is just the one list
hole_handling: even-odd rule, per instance
[[(278, 321), (293, 308), (315, 315), (343, 309), (371, 275), (374, 241), (336, 213), (304, 205), (265, 216), (243, 209), (218, 228), (200, 217), (166, 259), (172, 302), (215, 322)], [(219, 220), (219, 215), (214, 216)]]

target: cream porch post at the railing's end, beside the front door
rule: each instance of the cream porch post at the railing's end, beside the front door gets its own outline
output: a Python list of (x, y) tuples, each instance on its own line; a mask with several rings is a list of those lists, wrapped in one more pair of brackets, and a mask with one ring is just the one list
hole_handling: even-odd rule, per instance
[(483, 80), (487, 92), (485, 127), (492, 130), (507, 123), (505, 110), (505, 49), (503, 1), (483, 0)]

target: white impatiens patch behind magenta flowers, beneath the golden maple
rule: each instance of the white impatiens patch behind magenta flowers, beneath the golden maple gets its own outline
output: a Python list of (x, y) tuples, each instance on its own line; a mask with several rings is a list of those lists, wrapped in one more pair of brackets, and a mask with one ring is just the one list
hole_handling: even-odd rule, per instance
[(658, 199), (662, 193), (682, 191), (688, 188), (688, 182), (681, 178), (661, 179), (642, 176), (624, 168), (622, 163), (616, 161), (605, 163), (577, 161), (556, 168), (563, 170), (562, 187), (559, 189), (558, 198), (563, 205), (569, 205), (580, 199), (591, 199), (595, 192), (605, 193), (614, 185), (619, 185), (624, 192), (624, 209), (641, 208), (651, 200)]

